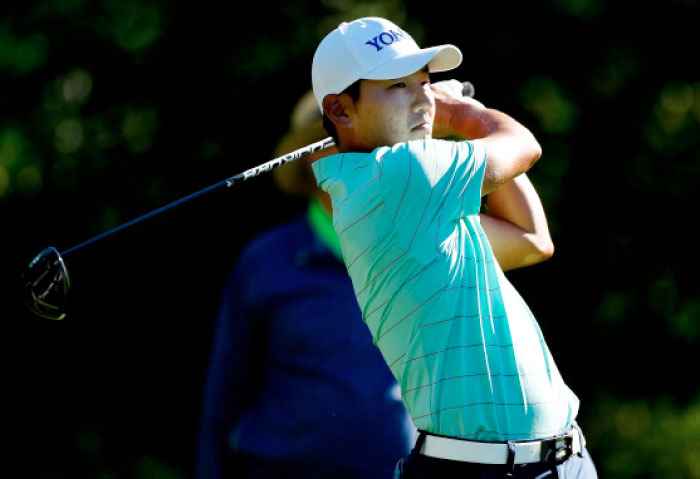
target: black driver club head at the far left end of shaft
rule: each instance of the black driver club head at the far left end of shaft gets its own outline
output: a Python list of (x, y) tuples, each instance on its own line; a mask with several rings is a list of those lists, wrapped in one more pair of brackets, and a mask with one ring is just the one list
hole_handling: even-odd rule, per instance
[(24, 301), (42, 318), (63, 319), (70, 291), (70, 278), (63, 258), (49, 246), (34, 258), (22, 273)]

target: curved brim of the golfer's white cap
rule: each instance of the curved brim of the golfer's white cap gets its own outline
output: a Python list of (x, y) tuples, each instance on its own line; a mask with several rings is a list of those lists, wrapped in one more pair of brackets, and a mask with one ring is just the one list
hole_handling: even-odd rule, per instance
[(430, 72), (444, 72), (457, 68), (462, 63), (462, 52), (454, 45), (424, 48), (415, 53), (402, 55), (381, 65), (362, 78), (367, 80), (392, 80), (412, 75), (424, 66)]

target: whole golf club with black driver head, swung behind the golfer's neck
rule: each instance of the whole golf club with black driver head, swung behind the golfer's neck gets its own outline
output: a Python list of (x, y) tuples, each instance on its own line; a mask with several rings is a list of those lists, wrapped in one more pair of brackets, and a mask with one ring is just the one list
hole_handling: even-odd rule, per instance
[[(447, 80), (444, 82), (439, 82), (445, 85), (448, 89), (451, 89), (457, 94), (462, 96), (473, 97), (474, 96), (474, 86), (470, 82), (458, 82), (456, 80)], [(120, 226), (117, 226), (111, 230), (101, 233), (93, 238), (90, 238), (82, 243), (72, 246), (59, 252), (53, 246), (49, 246), (39, 253), (34, 259), (29, 263), (29, 266), (24, 270), (21, 275), (21, 279), (24, 285), (24, 295), (25, 304), (29, 309), (38, 316), (47, 319), (60, 320), (66, 317), (65, 307), (68, 294), (71, 289), (70, 277), (68, 275), (68, 269), (63, 261), (63, 257), (77, 251), (85, 246), (88, 246), (96, 241), (104, 239), (111, 236), (119, 231), (125, 230), (131, 226), (134, 226), (142, 221), (152, 218), (156, 215), (164, 213), (168, 210), (187, 203), (190, 200), (198, 198), (200, 196), (206, 195), (208, 193), (230, 188), (231, 186), (241, 183), (243, 181), (255, 178), (263, 173), (273, 170), (278, 166), (284, 165), (291, 161), (297, 160), (303, 156), (310, 155), (311, 153), (323, 150), (335, 143), (331, 137), (325, 138), (316, 143), (311, 143), (297, 150), (282, 155), (274, 160), (270, 160), (267, 163), (255, 166), (242, 173), (239, 173), (230, 178), (226, 178), (223, 181), (215, 183), (211, 186), (203, 188), (192, 194), (189, 194), (179, 200), (175, 200), (172, 203), (168, 203), (165, 206), (161, 206), (150, 213), (146, 213), (138, 218), (128, 221)]]

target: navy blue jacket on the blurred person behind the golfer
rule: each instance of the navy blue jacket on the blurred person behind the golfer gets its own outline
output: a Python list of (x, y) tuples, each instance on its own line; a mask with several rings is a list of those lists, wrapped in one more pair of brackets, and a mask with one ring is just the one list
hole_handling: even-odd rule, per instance
[(225, 477), (238, 454), (308, 477), (389, 478), (414, 434), (345, 267), (306, 216), (256, 238), (216, 324), (197, 477)]

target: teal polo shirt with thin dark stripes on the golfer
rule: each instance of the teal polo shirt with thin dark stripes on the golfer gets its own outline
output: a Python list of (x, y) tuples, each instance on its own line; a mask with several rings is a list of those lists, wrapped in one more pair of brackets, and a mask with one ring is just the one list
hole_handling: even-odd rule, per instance
[(484, 441), (575, 418), (540, 328), (479, 223), (481, 141), (416, 140), (313, 164), (362, 316), (418, 429)]

